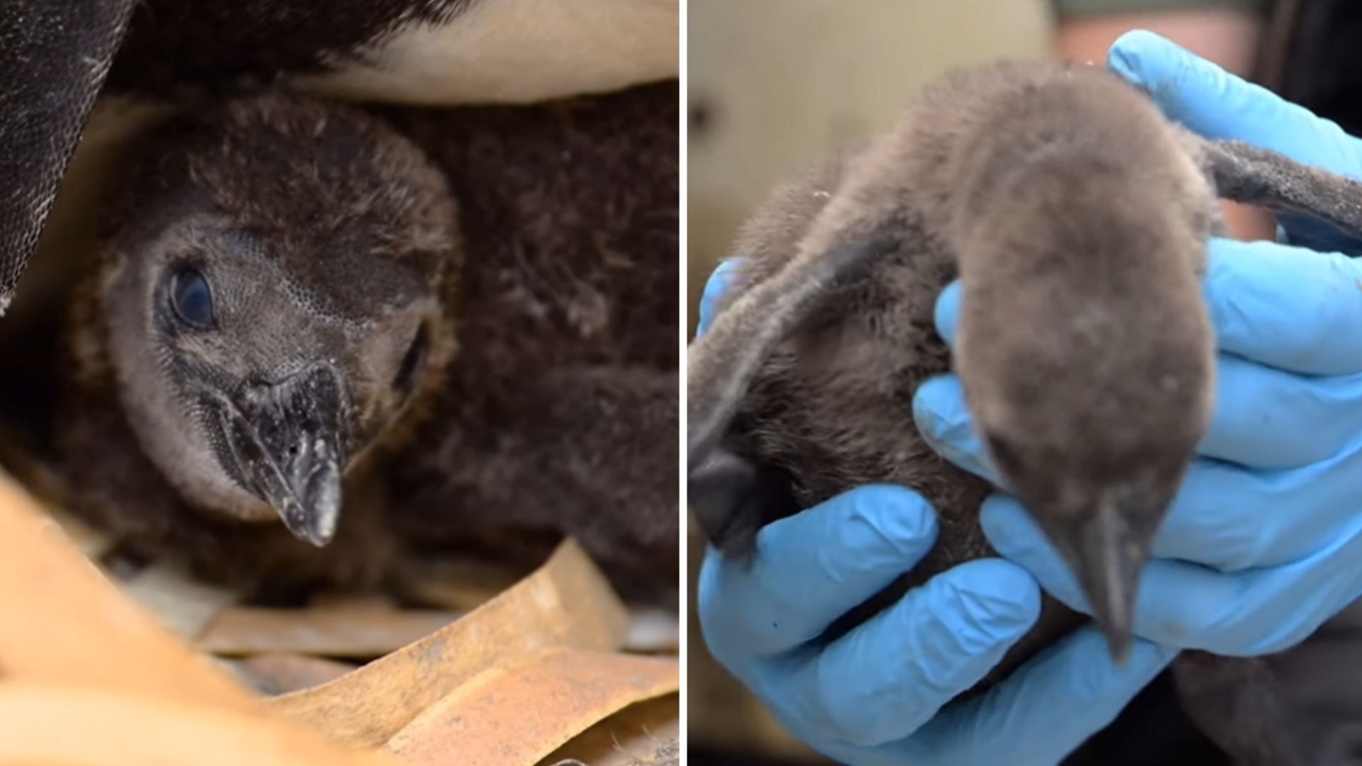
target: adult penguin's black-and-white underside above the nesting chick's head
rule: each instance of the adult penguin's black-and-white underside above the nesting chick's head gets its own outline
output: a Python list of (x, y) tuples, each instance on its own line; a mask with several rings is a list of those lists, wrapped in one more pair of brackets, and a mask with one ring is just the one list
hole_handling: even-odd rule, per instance
[(678, 30), (677, 0), (142, 0), (109, 87), (531, 102), (673, 78)]

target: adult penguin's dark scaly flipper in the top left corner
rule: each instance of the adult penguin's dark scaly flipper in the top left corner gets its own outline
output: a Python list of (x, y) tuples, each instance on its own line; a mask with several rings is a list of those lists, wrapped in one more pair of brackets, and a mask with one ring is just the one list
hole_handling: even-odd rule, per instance
[(0, 315), (38, 244), (133, 0), (0, 5)]

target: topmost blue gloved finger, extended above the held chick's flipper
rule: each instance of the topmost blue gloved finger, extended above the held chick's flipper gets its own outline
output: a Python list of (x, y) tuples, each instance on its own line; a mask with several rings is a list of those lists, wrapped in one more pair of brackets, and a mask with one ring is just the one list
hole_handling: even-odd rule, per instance
[(1145, 30), (1121, 35), (1107, 65), (1171, 120), (1209, 139), (1238, 139), (1297, 162), (1357, 176), (1359, 149), (1336, 123), (1237, 78)]

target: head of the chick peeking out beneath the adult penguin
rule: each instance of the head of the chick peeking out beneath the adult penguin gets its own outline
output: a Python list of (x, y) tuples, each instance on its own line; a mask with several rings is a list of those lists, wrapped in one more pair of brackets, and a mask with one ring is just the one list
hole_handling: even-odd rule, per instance
[(324, 545), (451, 354), (443, 177), (362, 113), (252, 98), (147, 136), (113, 211), (91, 298), (143, 451), (196, 510)]

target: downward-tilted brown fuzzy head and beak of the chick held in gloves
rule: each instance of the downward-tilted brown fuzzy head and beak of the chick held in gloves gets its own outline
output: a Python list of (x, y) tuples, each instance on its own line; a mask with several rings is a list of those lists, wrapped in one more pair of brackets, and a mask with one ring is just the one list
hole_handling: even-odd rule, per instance
[(1209, 421), (1205, 245), (1166, 191), (1072, 174), (1032, 174), (970, 236), (955, 360), (1001, 482), (1120, 660), (1140, 570)]

